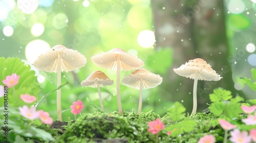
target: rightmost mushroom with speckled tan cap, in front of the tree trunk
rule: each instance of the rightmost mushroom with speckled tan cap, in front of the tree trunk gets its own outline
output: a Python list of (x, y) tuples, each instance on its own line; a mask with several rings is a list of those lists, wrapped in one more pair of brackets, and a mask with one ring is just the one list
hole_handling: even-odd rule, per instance
[(194, 116), (197, 112), (197, 81), (219, 81), (222, 77), (206, 61), (200, 58), (189, 60), (179, 68), (174, 68), (174, 71), (180, 76), (195, 80), (193, 88), (193, 110), (191, 113), (191, 116)]

